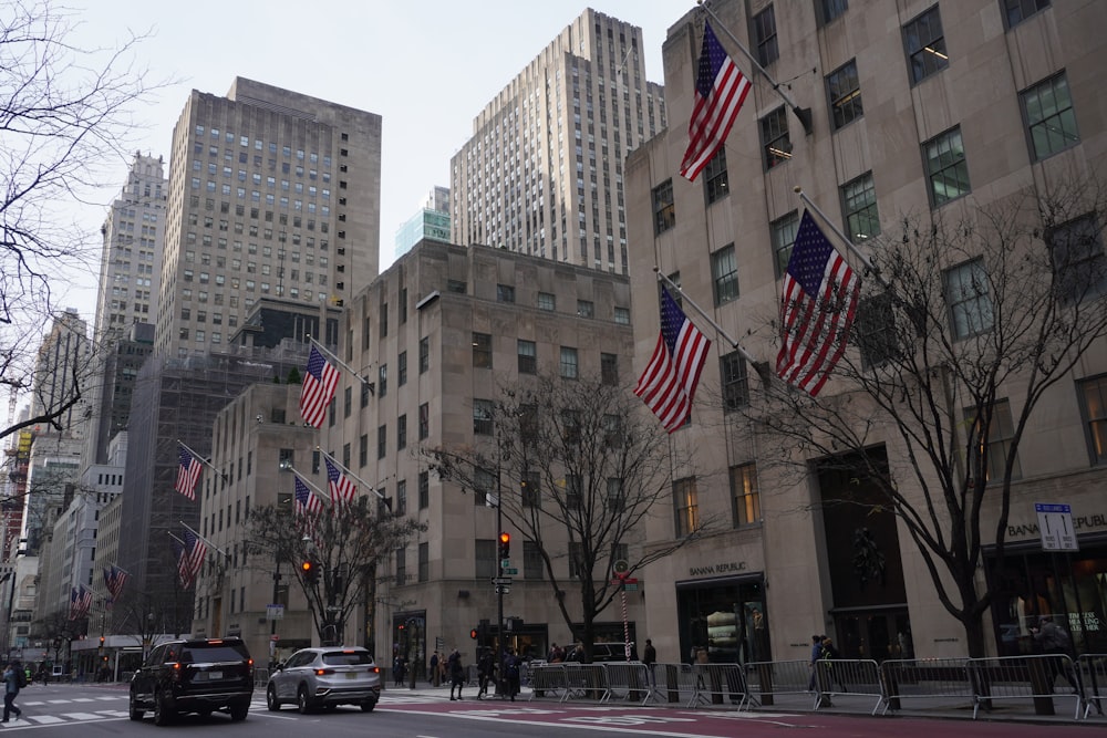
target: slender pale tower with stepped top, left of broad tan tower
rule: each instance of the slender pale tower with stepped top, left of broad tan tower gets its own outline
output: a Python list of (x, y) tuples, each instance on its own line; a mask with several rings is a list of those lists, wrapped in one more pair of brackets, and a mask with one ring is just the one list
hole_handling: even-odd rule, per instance
[(122, 335), (134, 323), (154, 321), (167, 193), (162, 157), (135, 154), (127, 183), (100, 228), (104, 246), (96, 295), (97, 341)]

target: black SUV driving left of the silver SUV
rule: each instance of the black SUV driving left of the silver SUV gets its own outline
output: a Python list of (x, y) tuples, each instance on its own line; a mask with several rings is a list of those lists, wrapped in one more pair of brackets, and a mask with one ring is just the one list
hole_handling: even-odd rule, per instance
[(155, 725), (178, 713), (226, 709), (245, 720), (254, 697), (254, 659), (241, 638), (159, 643), (131, 677), (131, 719), (154, 710)]

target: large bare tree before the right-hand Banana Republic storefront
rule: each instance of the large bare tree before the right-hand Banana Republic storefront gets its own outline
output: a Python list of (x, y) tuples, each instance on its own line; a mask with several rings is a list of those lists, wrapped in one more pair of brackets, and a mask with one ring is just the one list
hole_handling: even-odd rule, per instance
[[(815, 460), (869, 490), (838, 502), (898, 517), (972, 656), (992, 602), (977, 571), (985, 544), (1002, 562), (1020, 445), (1107, 335), (1104, 196), (1072, 180), (946, 208), (956, 221), (904, 219), (868, 249), (879, 277), (832, 383), (813, 399), (774, 382), (744, 410), (778, 441), (762, 444), (775, 462), (807, 474)], [(869, 580), (881, 569), (871, 553), (855, 561)]]

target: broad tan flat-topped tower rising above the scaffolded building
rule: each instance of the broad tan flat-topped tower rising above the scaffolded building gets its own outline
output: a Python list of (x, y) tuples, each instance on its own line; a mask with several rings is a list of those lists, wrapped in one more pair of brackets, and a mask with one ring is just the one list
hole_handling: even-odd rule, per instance
[[(173, 132), (154, 350), (219, 351), (254, 303), (341, 305), (377, 272), (381, 117), (236, 77)], [(317, 336), (337, 343), (337, 336)]]

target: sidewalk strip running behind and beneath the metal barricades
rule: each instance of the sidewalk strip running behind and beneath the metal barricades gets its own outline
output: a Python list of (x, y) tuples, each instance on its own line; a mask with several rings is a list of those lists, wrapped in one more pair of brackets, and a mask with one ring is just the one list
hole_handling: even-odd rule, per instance
[[(462, 701), (477, 701), (477, 686), (476, 684), (467, 684), (462, 690)], [(404, 697), (416, 697), (418, 699), (449, 699), (449, 687), (446, 685), (434, 687), (426, 682), (417, 682), (415, 688), (412, 689), (408, 686), (395, 686), (394, 684), (385, 684), (382, 696), (404, 698)], [(756, 696), (756, 695), (755, 695)], [(534, 697), (534, 693), (529, 686), (523, 686), (520, 688), (520, 694), (516, 696), (515, 705), (557, 705), (561, 704), (557, 697)], [(728, 703), (726, 704), (712, 704), (712, 705), (700, 705), (695, 708), (687, 707), (687, 701), (683, 699), (682, 701), (662, 701), (665, 699), (664, 694), (655, 694), (654, 699), (651, 699), (645, 705), (640, 701), (628, 701), (625, 699), (612, 699), (603, 705), (612, 706), (624, 706), (624, 707), (641, 707), (642, 709), (673, 709), (673, 710), (684, 710), (684, 709), (696, 709), (696, 710), (711, 710), (711, 711), (734, 711), (736, 707)], [(495, 703), (495, 704), (508, 704), (505, 699), (496, 696), (485, 697), (480, 700), (482, 703)], [(749, 714), (757, 715), (758, 713), (769, 714), (814, 714), (818, 713), (820, 715), (850, 715), (857, 716), (871, 716), (873, 708), (877, 705), (877, 700), (872, 697), (859, 697), (851, 695), (835, 695), (834, 707), (820, 708), (818, 710), (814, 709), (814, 697), (809, 695), (776, 695), (774, 704), (756, 706)], [(596, 700), (588, 699), (570, 699), (563, 703), (566, 705), (575, 705), (579, 707), (596, 706), (600, 703)], [(1076, 700), (1074, 698), (1062, 698), (1057, 697), (1053, 700), (1054, 715), (1037, 715), (1034, 710), (1034, 703), (1031, 699), (1025, 701), (1022, 700), (1005, 700), (992, 706), (990, 710), (981, 709), (976, 717), (977, 723), (1030, 723), (1036, 725), (1084, 725), (1088, 727), (1107, 728), (1107, 716), (1100, 715), (1095, 708), (1088, 715), (1088, 718), (1077, 720), (1074, 718), (1076, 710)], [(881, 707), (881, 709), (883, 709)], [(897, 717), (912, 717), (912, 718), (931, 718), (931, 719), (943, 719), (943, 720), (972, 720), (973, 719), (973, 706), (972, 703), (965, 699), (958, 698), (938, 698), (938, 699), (901, 699), (901, 707), (898, 710), (888, 710), (887, 714), (881, 715), (877, 711), (877, 715), (872, 716), (873, 720), (894, 720)]]

